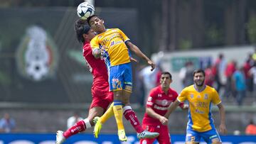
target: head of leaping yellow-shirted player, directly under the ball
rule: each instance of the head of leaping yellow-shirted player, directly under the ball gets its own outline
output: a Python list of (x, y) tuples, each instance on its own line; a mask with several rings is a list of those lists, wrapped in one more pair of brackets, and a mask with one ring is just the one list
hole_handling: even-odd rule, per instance
[(104, 20), (100, 18), (100, 16), (90, 16), (87, 18), (87, 23), (89, 23), (90, 27), (97, 33), (102, 33), (106, 30), (104, 26)]

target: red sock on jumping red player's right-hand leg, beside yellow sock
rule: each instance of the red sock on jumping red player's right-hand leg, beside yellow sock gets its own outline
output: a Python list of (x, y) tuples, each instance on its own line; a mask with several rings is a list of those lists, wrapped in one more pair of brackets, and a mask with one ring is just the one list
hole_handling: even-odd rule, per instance
[(139, 123), (139, 120), (135, 112), (132, 110), (132, 107), (124, 106), (123, 111), (124, 111), (124, 117), (127, 119), (127, 121), (129, 121), (132, 124), (135, 131), (137, 131), (137, 133), (142, 133), (144, 129), (142, 128), (142, 125)]

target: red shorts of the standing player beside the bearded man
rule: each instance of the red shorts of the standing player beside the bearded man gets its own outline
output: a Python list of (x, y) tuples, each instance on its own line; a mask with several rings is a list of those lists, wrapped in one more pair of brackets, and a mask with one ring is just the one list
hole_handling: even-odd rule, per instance
[(171, 138), (169, 133), (168, 126), (160, 125), (160, 126), (146, 126), (142, 124), (142, 128), (144, 130), (150, 131), (150, 132), (156, 132), (159, 133), (159, 136), (156, 138), (146, 138), (139, 140), (139, 143), (146, 143), (151, 144), (154, 143), (154, 140), (157, 140), (159, 144), (171, 144)]

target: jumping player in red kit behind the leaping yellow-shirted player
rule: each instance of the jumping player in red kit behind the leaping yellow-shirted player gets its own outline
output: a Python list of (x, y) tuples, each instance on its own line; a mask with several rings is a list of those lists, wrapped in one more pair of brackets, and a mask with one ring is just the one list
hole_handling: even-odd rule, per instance
[[(90, 26), (87, 25), (85, 20), (79, 19), (75, 22), (75, 33), (78, 41), (83, 43), (82, 55), (85, 58), (85, 63), (93, 77), (92, 104), (90, 105), (87, 118), (82, 121), (78, 121), (78, 123), (75, 123), (74, 126), (71, 126), (65, 132), (57, 131), (56, 144), (61, 144), (70, 136), (95, 126), (93, 118), (102, 116), (102, 114), (107, 110), (107, 107), (113, 101), (113, 92), (109, 91), (110, 87), (108, 84), (107, 67), (105, 65), (105, 61), (102, 58), (95, 59), (94, 55), (92, 55), (90, 40), (95, 37), (95, 32), (90, 28)], [(131, 60), (136, 62), (136, 60), (134, 60), (132, 57)], [(112, 108), (112, 106), (113, 104), (110, 105), (110, 108)], [(112, 109), (108, 109), (106, 113), (113, 113)], [(124, 106), (123, 113), (124, 117), (132, 124), (137, 133), (146, 135), (136, 114), (130, 106)], [(113, 116), (113, 114), (110, 114), (110, 116)]]

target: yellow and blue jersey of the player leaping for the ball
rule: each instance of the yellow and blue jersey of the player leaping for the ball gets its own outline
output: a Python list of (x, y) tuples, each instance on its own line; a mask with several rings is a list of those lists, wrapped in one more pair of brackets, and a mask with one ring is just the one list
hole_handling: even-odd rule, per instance
[(127, 40), (129, 38), (121, 30), (110, 28), (92, 38), (90, 45), (92, 49), (101, 48), (103, 45), (107, 47), (103, 56), (110, 67), (130, 62), (129, 50), (125, 45)]

